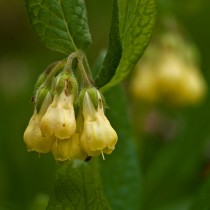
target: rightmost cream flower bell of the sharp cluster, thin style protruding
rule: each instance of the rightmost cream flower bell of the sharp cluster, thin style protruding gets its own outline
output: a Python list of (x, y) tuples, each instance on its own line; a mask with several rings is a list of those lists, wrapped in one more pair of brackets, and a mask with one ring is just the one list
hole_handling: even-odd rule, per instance
[[(96, 90), (97, 91), (97, 90)], [(81, 146), (89, 156), (111, 154), (117, 143), (117, 134), (104, 115), (102, 98), (98, 94), (98, 107), (94, 107), (88, 92), (83, 100), (84, 125), (81, 135)]]

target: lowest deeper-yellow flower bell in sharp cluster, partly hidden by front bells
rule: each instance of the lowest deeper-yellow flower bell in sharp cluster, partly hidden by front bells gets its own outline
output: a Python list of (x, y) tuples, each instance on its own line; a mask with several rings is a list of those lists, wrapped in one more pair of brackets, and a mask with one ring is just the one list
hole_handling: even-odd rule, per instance
[(55, 141), (52, 146), (52, 153), (58, 161), (84, 160), (87, 157), (80, 146), (80, 135), (78, 133), (74, 133), (70, 139)]

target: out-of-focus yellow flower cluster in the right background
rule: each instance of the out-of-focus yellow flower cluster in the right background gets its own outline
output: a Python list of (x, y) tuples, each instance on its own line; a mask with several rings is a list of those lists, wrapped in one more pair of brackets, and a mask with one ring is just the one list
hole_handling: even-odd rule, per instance
[(193, 50), (174, 34), (153, 43), (136, 66), (130, 83), (133, 96), (170, 105), (201, 101), (207, 88)]

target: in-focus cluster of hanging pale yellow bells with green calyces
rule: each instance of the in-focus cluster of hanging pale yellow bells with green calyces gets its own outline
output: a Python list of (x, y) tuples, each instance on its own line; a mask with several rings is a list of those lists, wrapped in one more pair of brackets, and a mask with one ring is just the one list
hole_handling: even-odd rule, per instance
[(28, 151), (52, 152), (58, 161), (112, 153), (118, 137), (104, 114), (101, 93), (88, 87), (78, 94), (72, 73), (60, 73), (50, 87), (53, 91), (41, 87), (36, 92), (34, 114), (24, 133)]

